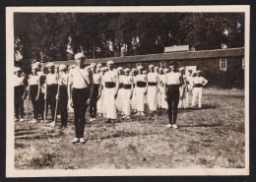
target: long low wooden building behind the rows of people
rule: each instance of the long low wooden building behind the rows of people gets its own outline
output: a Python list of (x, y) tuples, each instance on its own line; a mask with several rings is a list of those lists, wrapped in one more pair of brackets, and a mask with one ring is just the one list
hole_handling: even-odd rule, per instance
[[(115, 62), (115, 67), (136, 68), (142, 65), (148, 69), (150, 64), (160, 68), (168, 68), (172, 61), (178, 62), (179, 67), (196, 66), (209, 81), (209, 86), (222, 88), (244, 87), (244, 48), (226, 48), (215, 50), (200, 50), (172, 52), (125, 57), (110, 57), (87, 59), (87, 64), (101, 63), (108, 60)], [(75, 64), (74, 60), (57, 61), (55, 64)]]

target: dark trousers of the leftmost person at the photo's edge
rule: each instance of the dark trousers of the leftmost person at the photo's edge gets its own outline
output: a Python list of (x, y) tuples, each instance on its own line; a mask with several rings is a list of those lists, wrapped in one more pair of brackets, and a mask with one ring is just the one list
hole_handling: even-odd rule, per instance
[(14, 88), (15, 92), (15, 117), (19, 119), (19, 111), (21, 114), (21, 118), (24, 116), (24, 101), (23, 101), (23, 94), (24, 94), (24, 86), (17, 86)]

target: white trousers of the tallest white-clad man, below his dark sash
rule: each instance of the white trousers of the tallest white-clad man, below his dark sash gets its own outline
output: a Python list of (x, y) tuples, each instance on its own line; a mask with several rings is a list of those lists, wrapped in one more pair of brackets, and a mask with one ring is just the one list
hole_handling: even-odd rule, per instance
[(114, 94), (116, 88), (104, 88), (103, 105), (105, 116), (108, 119), (116, 119), (116, 100), (114, 99)]

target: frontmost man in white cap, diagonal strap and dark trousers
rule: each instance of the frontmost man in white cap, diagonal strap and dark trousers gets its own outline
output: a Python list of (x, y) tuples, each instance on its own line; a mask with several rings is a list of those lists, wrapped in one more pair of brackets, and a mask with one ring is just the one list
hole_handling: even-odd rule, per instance
[[(94, 78), (90, 67), (85, 68), (86, 57), (84, 53), (75, 55), (77, 67), (70, 72), (68, 87), (69, 103), (74, 107), (74, 124), (76, 137), (72, 141), (84, 144), (84, 131), (86, 126), (86, 110), (94, 95)], [(73, 91), (71, 92), (71, 88)]]

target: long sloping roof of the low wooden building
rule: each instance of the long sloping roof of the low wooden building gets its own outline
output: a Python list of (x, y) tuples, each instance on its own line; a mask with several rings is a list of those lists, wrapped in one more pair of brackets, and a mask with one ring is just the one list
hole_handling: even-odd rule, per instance
[[(87, 59), (87, 64), (106, 63), (109, 60), (112, 60), (115, 63), (132, 63), (132, 62), (145, 62), (145, 61), (167, 61), (167, 60), (221, 58), (221, 57), (236, 57), (236, 56), (244, 56), (244, 47)], [(55, 61), (54, 64), (71, 65), (71, 64), (75, 64), (75, 60)]]

